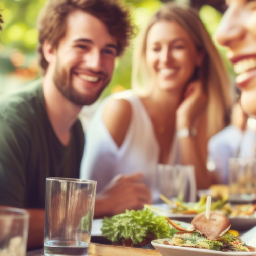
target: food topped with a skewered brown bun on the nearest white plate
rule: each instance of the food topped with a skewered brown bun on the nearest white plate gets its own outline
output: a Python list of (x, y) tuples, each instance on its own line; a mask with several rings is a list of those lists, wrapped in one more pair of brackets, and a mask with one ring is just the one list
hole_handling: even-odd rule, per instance
[(210, 212), (209, 219), (206, 218), (206, 212), (197, 215), (191, 223), (193, 227), (187, 229), (173, 223), (169, 218), (166, 219), (179, 232), (172, 238), (165, 239), (163, 244), (227, 252), (256, 251), (256, 248), (247, 246), (239, 237), (228, 232), (230, 221), (218, 212)]

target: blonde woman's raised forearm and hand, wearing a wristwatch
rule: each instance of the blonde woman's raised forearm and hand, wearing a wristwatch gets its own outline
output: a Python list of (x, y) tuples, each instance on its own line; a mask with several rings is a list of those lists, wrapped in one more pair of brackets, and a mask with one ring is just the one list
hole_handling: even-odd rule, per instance
[(198, 122), (198, 134), (180, 137), (179, 145), (182, 164), (195, 166), (197, 189), (205, 189), (211, 185), (211, 174), (206, 168), (207, 163), (207, 97), (202, 90), (200, 81), (191, 83), (185, 92), (185, 98), (176, 112), (176, 128), (179, 131), (191, 130)]

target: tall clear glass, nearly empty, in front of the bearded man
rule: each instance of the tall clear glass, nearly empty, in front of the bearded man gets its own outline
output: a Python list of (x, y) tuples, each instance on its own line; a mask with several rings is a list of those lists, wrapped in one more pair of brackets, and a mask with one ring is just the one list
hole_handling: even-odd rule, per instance
[(88, 255), (96, 181), (47, 178), (45, 255)]

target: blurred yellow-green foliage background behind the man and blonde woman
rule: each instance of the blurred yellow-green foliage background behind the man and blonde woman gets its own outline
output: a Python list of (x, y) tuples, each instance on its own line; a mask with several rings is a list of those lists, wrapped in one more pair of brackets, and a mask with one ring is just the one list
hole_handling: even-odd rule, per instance
[[(218, 2), (218, 0), (215, 1)], [(0, 9), (2, 9), (5, 22), (3, 31), (0, 33), (0, 94), (15, 90), (40, 76), (36, 60), (38, 37), (36, 19), (45, 2), (46, 0), (0, 0)], [(176, 2), (189, 1), (176, 0)], [(201, 0), (199, 2), (202, 3)], [(143, 25), (163, 4), (159, 0), (126, 0), (126, 3), (131, 6), (137, 30), (143, 28)], [(212, 35), (222, 14), (210, 5), (200, 4), (199, 8), (200, 18), (209, 34)], [(225, 56), (224, 49), (218, 48)], [(116, 61), (113, 79), (102, 97), (131, 87), (132, 52), (131, 46), (125, 55)], [(225, 60), (225, 62), (232, 76), (232, 69), (228, 61)]]

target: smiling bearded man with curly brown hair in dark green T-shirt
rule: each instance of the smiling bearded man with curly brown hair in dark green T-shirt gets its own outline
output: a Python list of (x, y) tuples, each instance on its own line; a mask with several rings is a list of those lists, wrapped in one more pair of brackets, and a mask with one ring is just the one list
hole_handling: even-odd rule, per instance
[(39, 17), (42, 80), (0, 98), (0, 205), (29, 211), (29, 249), (42, 246), (45, 178), (79, 178), (77, 115), (109, 83), (131, 34), (117, 1), (51, 0)]

